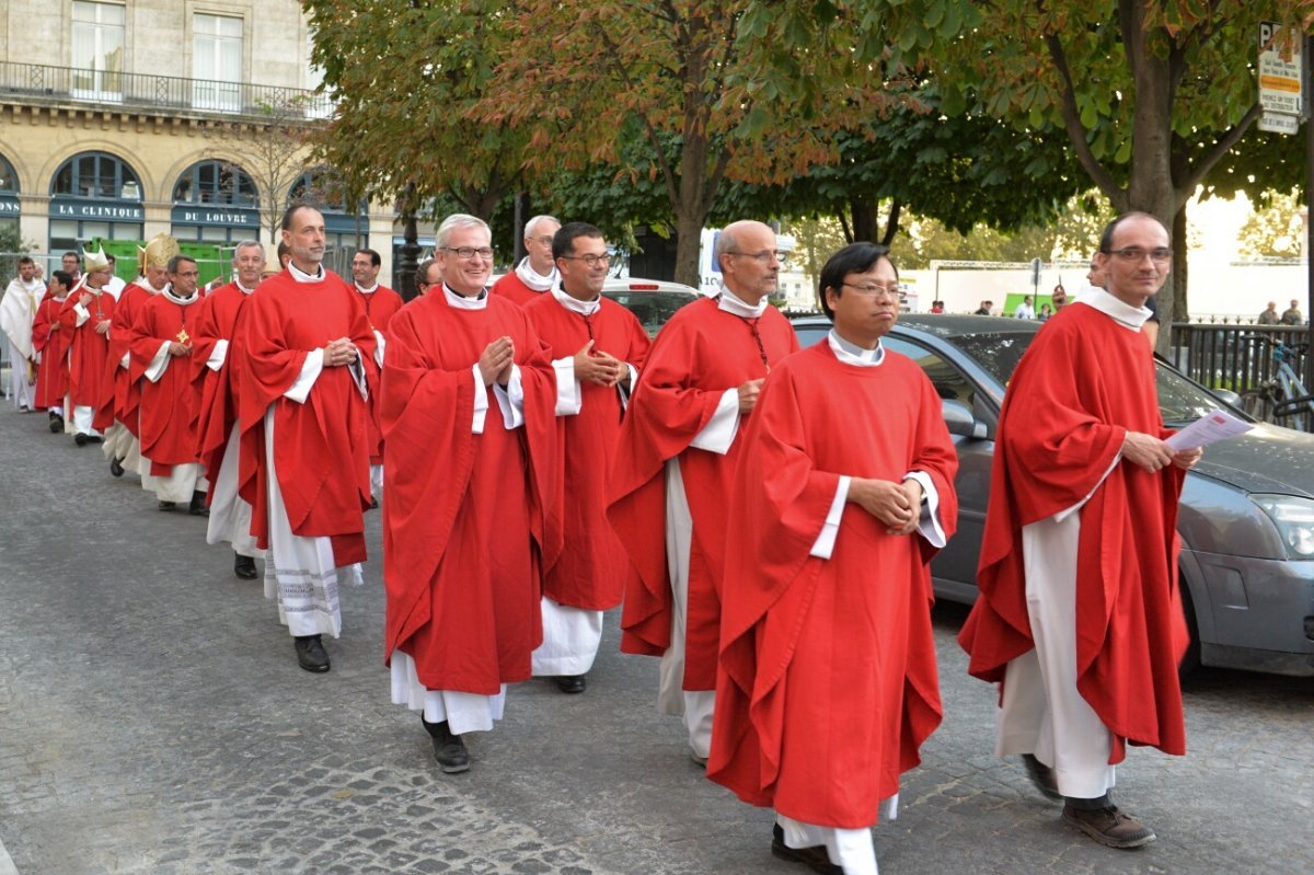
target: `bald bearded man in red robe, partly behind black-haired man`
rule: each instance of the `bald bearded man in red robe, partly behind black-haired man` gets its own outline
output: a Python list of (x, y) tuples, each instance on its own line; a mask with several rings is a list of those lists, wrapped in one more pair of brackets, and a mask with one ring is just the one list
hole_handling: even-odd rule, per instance
[(775, 231), (733, 222), (716, 238), (720, 294), (681, 307), (639, 376), (616, 441), (607, 518), (629, 553), (620, 649), (662, 658), (658, 707), (683, 715), (707, 762), (716, 700), (727, 489), (762, 380), (799, 342), (767, 305)]

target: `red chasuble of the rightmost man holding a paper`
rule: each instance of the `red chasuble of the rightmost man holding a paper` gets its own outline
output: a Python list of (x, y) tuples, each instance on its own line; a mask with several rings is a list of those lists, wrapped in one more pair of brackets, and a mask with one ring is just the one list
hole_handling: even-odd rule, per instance
[[(1177, 662), (1188, 641), (1177, 591), (1177, 499), (1185, 472), (1120, 461), (1127, 431), (1167, 438), (1150, 347), (1084, 303), (1055, 314), (1031, 342), (1000, 414), (986, 514), (980, 598), (958, 636), (968, 671), (1003, 682), (1034, 646), (1022, 527), (1081, 506), (1076, 569), (1077, 690), (1123, 742), (1185, 753)], [(1099, 487), (1096, 489), (1096, 486)]]

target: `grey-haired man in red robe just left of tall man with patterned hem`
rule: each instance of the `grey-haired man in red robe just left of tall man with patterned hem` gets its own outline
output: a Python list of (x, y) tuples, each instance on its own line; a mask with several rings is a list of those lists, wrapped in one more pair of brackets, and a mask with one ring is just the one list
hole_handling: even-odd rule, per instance
[(192, 386), (198, 399), (196, 456), (210, 481), (205, 543), (231, 544), (233, 573), (243, 581), (255, 579), (255, 560), (264, 558), (264, 550), (251, 536), (251, 505), (238, 495), (238, 388), (229, 363), (238, 314), (263, 272), (264, 247), (258, 240), (238, 243), (233, 250), (233, 281), (201, 298), (192, 328)]

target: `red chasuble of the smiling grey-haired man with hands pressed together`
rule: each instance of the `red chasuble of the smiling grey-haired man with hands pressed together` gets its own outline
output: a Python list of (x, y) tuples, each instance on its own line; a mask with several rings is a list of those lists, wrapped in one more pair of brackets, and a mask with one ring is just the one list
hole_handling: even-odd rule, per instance
[[(489, 407), (476, 435), (473, 367), (501, 336), (515, 344), (524, 424), (507, 430), (495, 390), (481, 386)], [(503, 298), (460, 310), (439, 290), (389, 326), (380, 397), (385, 660), (407, 653), (430, 690), (493, 695), (530, 677), (543, 641), (536, 565), (541, 556), (551, 566), (561, 550), (544, 507), (557, 489), (555, 407), (547, 349)]]

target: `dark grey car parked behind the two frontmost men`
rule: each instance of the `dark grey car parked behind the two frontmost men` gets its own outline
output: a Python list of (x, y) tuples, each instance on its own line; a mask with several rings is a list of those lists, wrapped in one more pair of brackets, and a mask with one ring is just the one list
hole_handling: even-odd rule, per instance
[[(930, 377), (958, 447), (958, 535), (932, 562), (941, 598), (976, 599), (1004, 388), (1041, 327), (1026, 319), (905, 314), (884, 338), (887, 348)], [(799, 343), (811, 346), (830, 323), (796, 317), (794, 328)], [(1156, 364), (1159, 407), (1169, 427), (1235, 401)], [(1314, 675), (1314, 435), (1257, 423), (1209, 447), (1187, 476), (1177, 531), (1192, 633), (1183, 669), (1204, 663)]]

